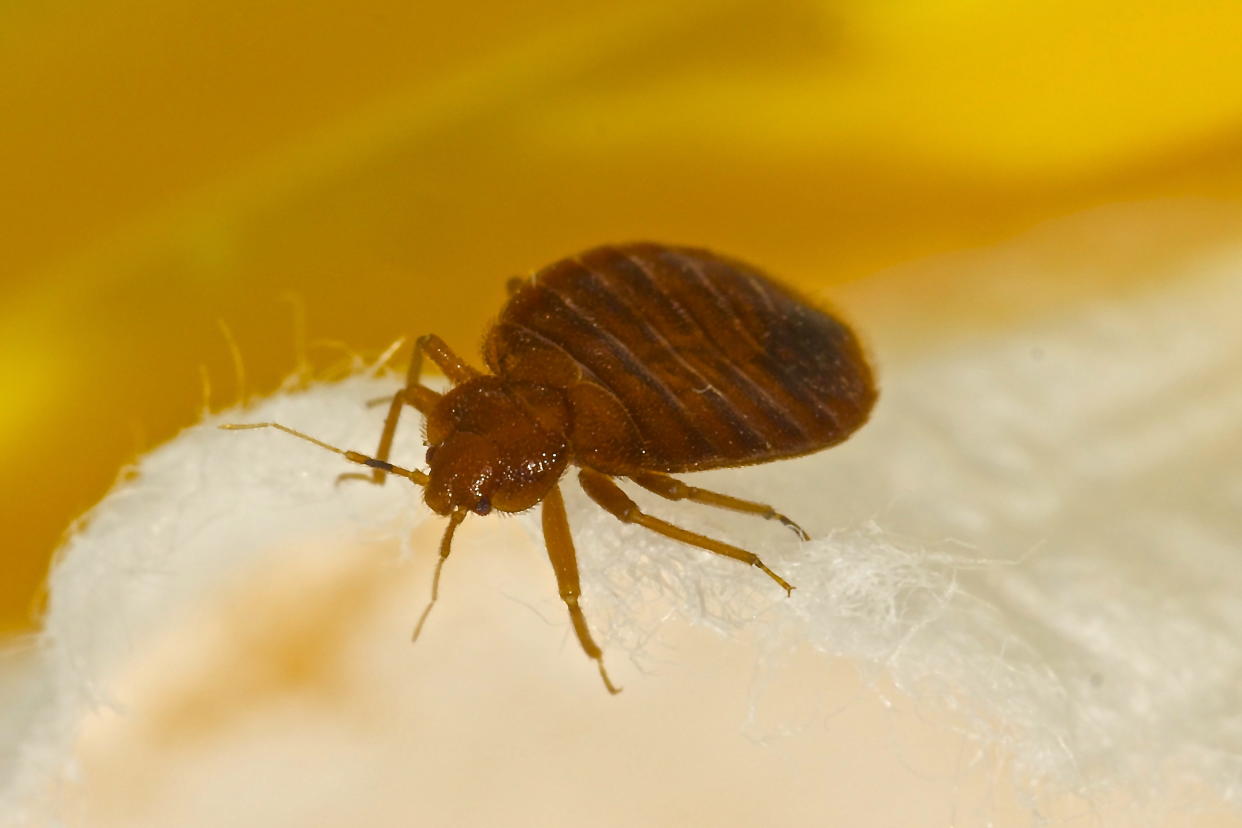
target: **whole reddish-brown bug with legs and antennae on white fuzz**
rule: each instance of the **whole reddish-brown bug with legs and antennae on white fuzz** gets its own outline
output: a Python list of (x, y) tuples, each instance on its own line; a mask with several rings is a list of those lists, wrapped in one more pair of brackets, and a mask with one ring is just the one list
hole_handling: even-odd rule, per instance
[[(452, 387), (420, 382), (430, 359)], [(705, 250), (655, 243), (604, 246), (509, 282), (509, 299), (487, 334), (482, 372), (438, 336), (420, 338), (405, 386), (389, 406), (374, 456), (278, 428), (371, 468), (343, 474), (376, 484), (396, 474), (422, 487), (448, 518), (431, 601), (453, 533), (471, 513), (540, 505), (544, 542), (578, 641), (610, 693), (579, 606), (578, 559), (559, 483), (570, 464), (586, 494), (633, 523), (749, 564), (786, 593), (792, 586), (754, 552), (650, 515), (616, 483), (627, 478), (669, 500), (777, 520), (769, 505), (687, 485), (672, 473), (765, 463), (827, 448), (862, 426), (876, 385), (853, 331), (758, 269)], [(389, 462), (405, 407), (426, 422), (427, 472)]]

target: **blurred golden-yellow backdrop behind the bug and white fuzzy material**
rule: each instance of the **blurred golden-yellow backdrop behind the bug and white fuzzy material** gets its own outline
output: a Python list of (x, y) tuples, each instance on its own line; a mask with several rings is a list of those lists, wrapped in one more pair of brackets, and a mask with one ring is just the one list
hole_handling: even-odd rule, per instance
[(236, 397), (219, 320), (262, 391), (289, 293), (312, 341), (472, 354), (507, 276), (604, 241), (848, 294), (1097, 204), (1236, 202), (1240, 42), (1207, 0), (6, 4), (0, 626), (200, 370)]

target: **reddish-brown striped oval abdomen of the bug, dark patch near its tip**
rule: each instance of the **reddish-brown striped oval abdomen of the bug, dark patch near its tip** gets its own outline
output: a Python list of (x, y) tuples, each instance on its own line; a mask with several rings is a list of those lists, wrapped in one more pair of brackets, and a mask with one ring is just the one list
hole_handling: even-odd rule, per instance
[(523, 362), (524, 380), (597, 385), (632, 425), (641, 468), (661, 472), (826, 448), (876, 400), (845, 323), (686, 247), (597, 247), (543, 268), (502, 310), (487, 358), (502, 377)]

